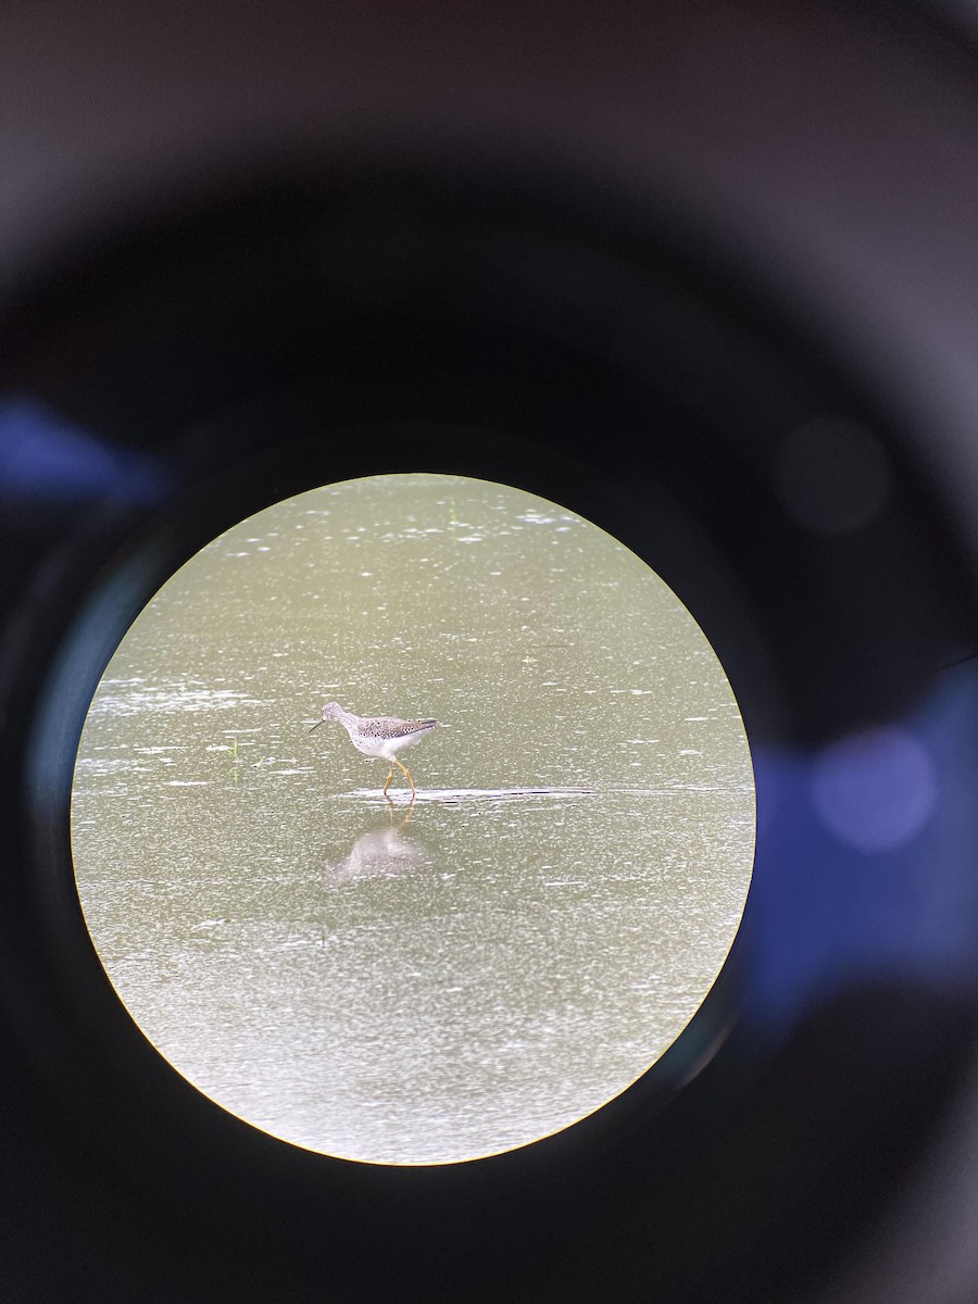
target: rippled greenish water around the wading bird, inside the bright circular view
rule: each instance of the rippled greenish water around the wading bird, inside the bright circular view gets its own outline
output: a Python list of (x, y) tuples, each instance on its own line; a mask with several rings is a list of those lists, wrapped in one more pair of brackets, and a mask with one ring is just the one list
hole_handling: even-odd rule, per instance
[[(336, 724), (434, 716), (419, 788)], [(395, 771), (396, 773), (396, 771)], [(609, 536), (515, 489), (303, 494), (160, 591), (85, 726), (80, 896), (147, 1037), (296, 1144), (385, 1162), (566, 1125), (675, 1038), (750, 879), (708, 643)]]

